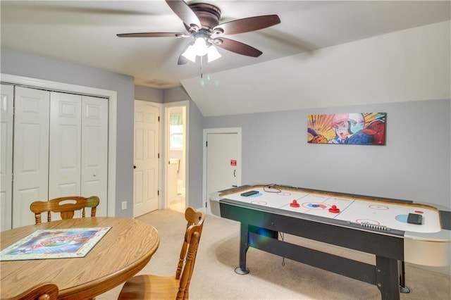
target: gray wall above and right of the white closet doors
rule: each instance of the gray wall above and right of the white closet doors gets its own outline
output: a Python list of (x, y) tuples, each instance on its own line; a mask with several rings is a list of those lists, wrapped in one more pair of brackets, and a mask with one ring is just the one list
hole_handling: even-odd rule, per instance
[[(51, 80), (117, 92), (116, 215), (132, 217), (133, 200), (133, 77), (41, 56), (1, 49), (1, 73)], [(121, 201), (128, 209), (121, 210)]]

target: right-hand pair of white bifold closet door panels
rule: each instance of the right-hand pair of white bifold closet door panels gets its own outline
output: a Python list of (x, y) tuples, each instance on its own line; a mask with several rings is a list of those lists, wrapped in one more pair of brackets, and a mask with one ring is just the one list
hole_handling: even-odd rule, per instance
[(96, 195), (106, 215), (107, 109), (106, 99), (51, 93), (49, 199)]

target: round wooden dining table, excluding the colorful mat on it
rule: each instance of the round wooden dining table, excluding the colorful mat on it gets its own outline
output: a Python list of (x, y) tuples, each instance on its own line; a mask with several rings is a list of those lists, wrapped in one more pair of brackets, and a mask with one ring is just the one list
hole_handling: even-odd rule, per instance
[(58, 285), (58, 299), (93, 299), (121, 285), (144, 268), (159, 247), (159, 232), (128, 218), (58, 220), (0, 232), (5, 249), (36, 230), (111, 227), (85, 257), (1, 261), (1, 299), (41, 282)]

